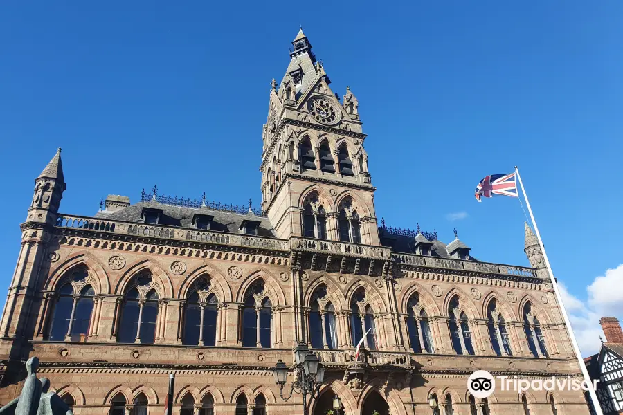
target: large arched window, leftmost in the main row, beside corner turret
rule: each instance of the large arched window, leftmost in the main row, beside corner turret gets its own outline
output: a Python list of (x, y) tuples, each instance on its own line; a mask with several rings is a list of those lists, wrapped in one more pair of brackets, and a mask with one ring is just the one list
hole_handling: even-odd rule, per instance
[(95, 291), (84, 282), (89, 273), (86, 268), (73, 271), (71, 282), (58, 291), (52, 317), (50, 340), (55, 342), (84, 342), (91, 326), (93, 313), (93, 296)]

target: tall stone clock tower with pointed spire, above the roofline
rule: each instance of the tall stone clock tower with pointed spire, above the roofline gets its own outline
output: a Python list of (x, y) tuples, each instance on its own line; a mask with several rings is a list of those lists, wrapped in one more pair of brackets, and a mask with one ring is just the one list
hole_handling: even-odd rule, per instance
[(262, 131), (262, 209), (279, 238), (380, 245), (359, 102), (329, 87), (299, 30), (290, 63), (271, 84)]

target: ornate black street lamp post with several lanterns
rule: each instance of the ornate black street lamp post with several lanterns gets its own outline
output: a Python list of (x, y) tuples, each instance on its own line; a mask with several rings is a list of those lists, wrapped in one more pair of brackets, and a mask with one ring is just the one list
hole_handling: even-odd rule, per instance
[[(305, 344), (299, 344), (294, 349), (294, 370), (296, 380), (292, 382), (290, 394), (283, 396), (283, 387), (288, 377), (288, 367), (279, 359), (275, 365), (275, 380), (279, 386), (279, 395), (283, 400), (289, 400), (294, 392), (303, 395), (303, 414), (307, 415), (307, 406), (312, 399), (318, 398), (320, 385), (325, 381), (325, 368), (320, 365), (318, 356), (307, 348)], [(307, 395), (309, 394), (309, 403)]]

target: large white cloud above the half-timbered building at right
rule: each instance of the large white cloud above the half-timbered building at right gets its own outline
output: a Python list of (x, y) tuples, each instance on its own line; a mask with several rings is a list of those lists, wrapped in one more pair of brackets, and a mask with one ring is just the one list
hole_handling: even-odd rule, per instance
[(623, 264), (596, 277), (586, 287), (585, 302), (570, 294), (561, 282), (558, 287), (582, 356), (597, 353), (599, 336), (606, 340), (599, 319), (612, 316), (623, 322), (623, 289), (620, 288), (623, 287)]

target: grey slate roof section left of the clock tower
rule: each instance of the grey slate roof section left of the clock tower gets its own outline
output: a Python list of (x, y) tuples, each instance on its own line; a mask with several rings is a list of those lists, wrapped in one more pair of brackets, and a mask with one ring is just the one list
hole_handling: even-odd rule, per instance
[(118, 221), (128, 221), (143, 223), (141, 212), (143, 208), (152, 208), (162, 210), (162, 216), (159, 225), (179, 226), (181, 228), (195, 228), (192, 224), (192, 217), (195, 214), (206, 214), (214, 216), (210, 225), (210, 230), (217, 232), (240, 233), (240, 225), (242, 221), (258, 221), (258, 237), (275, 237), (273, 228), (266, 216), (255, 216), (253, 213), (238, 214), (233, 212), (223, 212), (209, 208), (183, 208), (175, 205), (165, 205), (158, 202), (139, 202), (129, 205), (127, 208), (121, 208), (116, 212), (107, 212), (103, 210), (96, 214), (96, 218), (111, 219)]

